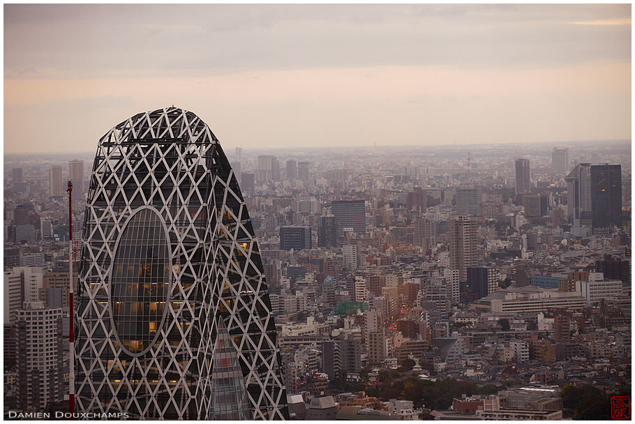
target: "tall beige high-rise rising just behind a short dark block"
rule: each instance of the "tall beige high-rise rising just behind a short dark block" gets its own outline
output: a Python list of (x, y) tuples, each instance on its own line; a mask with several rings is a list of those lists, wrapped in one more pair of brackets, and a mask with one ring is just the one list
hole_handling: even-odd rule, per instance
[(468, 281), (468, 267), (477, 266), (477, 222), (459, 215), (449, 221), (450, 268), (458, 269), (461, 282)]

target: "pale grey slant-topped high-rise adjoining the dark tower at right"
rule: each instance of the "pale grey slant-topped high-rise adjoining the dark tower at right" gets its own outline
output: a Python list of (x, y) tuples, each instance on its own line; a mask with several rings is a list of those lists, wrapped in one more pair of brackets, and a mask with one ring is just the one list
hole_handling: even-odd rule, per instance
[(567, 181), (567, 207), (569, 222), (574, 227), (590, 225), (591, 209), (591, 164), (579, 163), (565, 177)]

